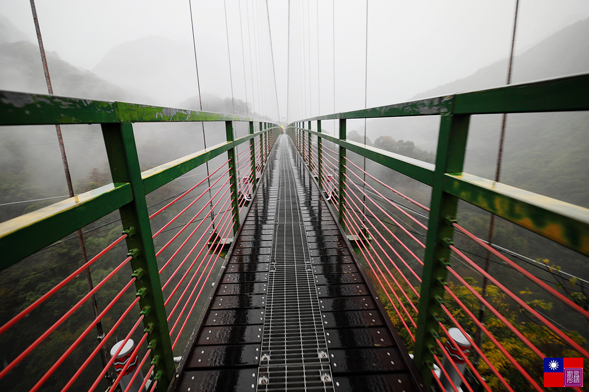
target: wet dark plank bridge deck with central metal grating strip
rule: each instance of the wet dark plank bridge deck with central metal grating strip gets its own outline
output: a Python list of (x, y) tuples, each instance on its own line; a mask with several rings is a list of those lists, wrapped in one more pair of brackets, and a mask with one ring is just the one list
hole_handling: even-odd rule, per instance
[(425, 391), (312, 174), (276, 147), (170, 389)]

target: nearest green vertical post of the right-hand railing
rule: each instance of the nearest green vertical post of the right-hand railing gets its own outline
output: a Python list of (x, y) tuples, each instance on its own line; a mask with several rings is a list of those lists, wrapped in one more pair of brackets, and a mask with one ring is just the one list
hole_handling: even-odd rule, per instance
[(415, 333), (414, 362), (426, 388), (432, 383), (434, 350), (437, 347), (438, 321), (444, 301), (446, 265), (449, 264), (449, 244), (452, 244), (458, 199), (442, 191), (445, 173), (461, 173), (466, 152), (469, 115), (442, 115), (438, 136), (438, 151), (432, 186), (431, 210), (426, 237), (423, 273)]

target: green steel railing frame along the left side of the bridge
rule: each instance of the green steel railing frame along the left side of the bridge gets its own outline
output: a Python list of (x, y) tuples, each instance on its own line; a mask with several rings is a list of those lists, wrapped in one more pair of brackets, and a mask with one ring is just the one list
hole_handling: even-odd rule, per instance
[[(140, 171), (133, 123), (137, 122), (225, 122), (226, 142)], [(234, 139), (233, 122), (249, 123), (249, 135)], [(254, 132), (254, 122), (260, 130)], [(262, 119), (223, 113), (203, 112), (125, 102), (107, 102), (0, 91), (0, 125), (96, 124), (102, 126), (113, 183), (55, 203), (35, 212), (0, 223), (0, 270), (11, 266), (49, 244), (94, 222), (115, 210), (120, 211), (128, 254), (133, 255), (130, 272), (143, 272), (135, 281), (143, 324), (148, 332), (154, 373), (160, 385), (167, 386), (175, 366), (161, 292), (145, 196), (184, 173), (227, 153), (231, 189), (233, 231), (240, 225), (236, 148), (249, 142), (252, 172), (256, 171), (254, 138), (262, 139), (269, 150), (280, 127)], [(255, 178), (255, 177), (254, 177)], [(255, 187), (255, 181), (253, 187)]]

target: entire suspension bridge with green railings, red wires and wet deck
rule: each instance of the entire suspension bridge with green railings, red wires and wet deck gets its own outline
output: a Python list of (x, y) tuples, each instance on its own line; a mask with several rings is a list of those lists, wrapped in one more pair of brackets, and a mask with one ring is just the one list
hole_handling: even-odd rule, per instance
[[(366, 29), (368, 47), (368, 8)], [(309, 71), (310, 107), (307, 54), (296, 72)], [(473, 116), (589, 110), (589, 74), (508, 77), (376, 108), (365, 90), (365, 108), (286, 124), (52, 95), (45, 71), (49, 95), (0, 91), (0, 126), (100, 128), (109, 180), (75, 195), (68, 179), (67, 199), (0, 223), (0, 272), (18, 276), (0, 284), (3, 389), (584, 390), (589, 282), (473, 234), (461, 217), (490, 213), (587, 262), (589, 209), (464, 166)], [(303, 95), (290, 102), (300, 117)], [(270, 107), (274, 96), (257, 99)], [(348, 137), (354, 121), (422, 116), (439, 118), (433, 162)], [(204, 124), (222, 137), (145, 167), (136, 136), (146, 123), (202, 123), (203, 137)], [(76, 239), (81, 257), (70, 260)], [(17, 292), (26, 300), (12, 306)], [(575, 359), (580, 378), (546, 376), (547, 357)]]

